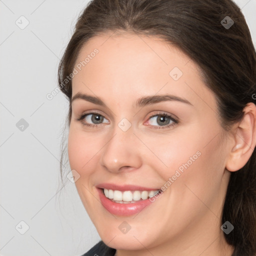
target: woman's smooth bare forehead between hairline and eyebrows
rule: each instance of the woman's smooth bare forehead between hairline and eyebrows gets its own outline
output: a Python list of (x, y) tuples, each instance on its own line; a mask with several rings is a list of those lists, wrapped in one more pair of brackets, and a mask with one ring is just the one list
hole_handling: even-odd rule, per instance
[(93, 36), (81, 48), (75, 68), (72, 95), (83, 91), (117, 98), (167, 92), (186, 96), (195, 104), (205, 104), (203, 98), (214, 107), (214, 95), (198, 65), (158, 37), (112, 32)]

